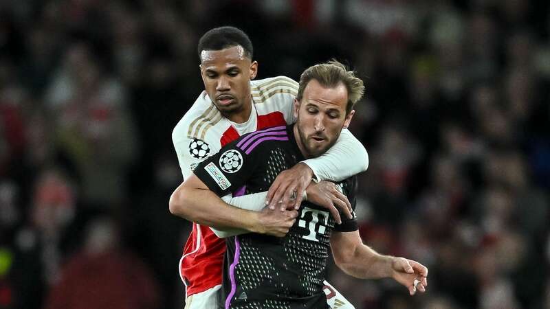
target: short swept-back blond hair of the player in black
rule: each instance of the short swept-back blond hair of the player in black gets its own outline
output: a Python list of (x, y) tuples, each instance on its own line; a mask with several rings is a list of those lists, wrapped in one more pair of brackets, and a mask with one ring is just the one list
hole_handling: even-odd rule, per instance
[(311, 80), (317, 80), (322, 87), (333, 88), (340, 82), (344, 84), (348, 91), (348, 103), (346, 106), (346, 115), (353, 109), (355, 103), (363, 98), (365, 86), (360, 78), (355, 77), (354, 71), (348, 71), (347, 67), (337, 60), (331, 60), (327, 63), (308, 67), (300, 76), (298, 95), (296, 99), (301, 101), (304, 90)]

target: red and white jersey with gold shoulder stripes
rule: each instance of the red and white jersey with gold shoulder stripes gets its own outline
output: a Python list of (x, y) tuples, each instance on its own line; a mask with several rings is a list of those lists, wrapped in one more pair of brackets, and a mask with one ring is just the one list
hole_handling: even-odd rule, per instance
[[(243, 125), (239, 129), (253, 131), (284, 126), (295, 121), (292, 103), (298, 92), (297, 82), (278, 76), (252, 80), (250, 89), (254, 112), (248, 122), (256, 122), (256, 126)], [(201, 161), (240, 135), (214, 106), (206, 91), (203, 91), (172, 133), (184, 179), (190, 176)], [(217, 238), (208, 227), (193, 223), (179, 261), (179, 274), (186, 284), (186, 296), (221, 284), (224, 253), (225, 240)]]

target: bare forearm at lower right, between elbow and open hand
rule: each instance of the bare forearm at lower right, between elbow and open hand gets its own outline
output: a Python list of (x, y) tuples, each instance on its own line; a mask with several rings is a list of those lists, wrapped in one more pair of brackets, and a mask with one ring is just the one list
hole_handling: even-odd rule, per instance
[(392, 259), (388, 255), (381, 255), (373, 249), (361, 244), (349, 259), (342, 261), (338, 267), (353, 277), (360, 279), (380, 279), (391, 277)]

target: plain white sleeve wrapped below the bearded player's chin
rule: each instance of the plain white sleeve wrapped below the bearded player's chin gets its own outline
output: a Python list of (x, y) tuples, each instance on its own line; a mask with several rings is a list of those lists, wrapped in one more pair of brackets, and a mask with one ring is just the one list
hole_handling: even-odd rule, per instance
[(316, 181), (342, 181), (366, 171), (369, 154), (348, 129), (342, 130), (336, 144), (320, 157), (303, 161), (314, 172)]

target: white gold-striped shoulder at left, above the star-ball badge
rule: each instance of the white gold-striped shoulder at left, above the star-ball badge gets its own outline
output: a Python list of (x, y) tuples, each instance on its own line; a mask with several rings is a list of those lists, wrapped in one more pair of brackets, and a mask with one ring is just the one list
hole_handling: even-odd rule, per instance
[(172, 139), (177, 142), (186, 138), (199, 138), (201, 129), (214, 126), (220, 119), (218, 109), (212, 104), (206, 91), (203, 91), (174, 127)]

